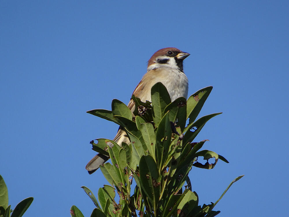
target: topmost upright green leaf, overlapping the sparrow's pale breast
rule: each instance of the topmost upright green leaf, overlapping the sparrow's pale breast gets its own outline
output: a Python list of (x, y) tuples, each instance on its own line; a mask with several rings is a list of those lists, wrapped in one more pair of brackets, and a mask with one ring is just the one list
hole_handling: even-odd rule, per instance
[(151, 88), (151, 102), (153, 107), (153, 122), (155, 126), (158, 126), (163, 117), (164, 109), (171, 103), (171, 97), (161, 82), (156, 83)]

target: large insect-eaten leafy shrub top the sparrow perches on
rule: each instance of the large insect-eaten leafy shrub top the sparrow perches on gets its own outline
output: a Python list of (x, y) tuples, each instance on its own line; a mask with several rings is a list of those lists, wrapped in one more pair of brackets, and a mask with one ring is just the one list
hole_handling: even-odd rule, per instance
[[(123, 143), (122, 148), (109, 139), (98, 139), (97, 144), (92, 141), (92, 149), (109, 155), (112, 163), (100, 166), (110, 185), (99, 189), (99, 203), (87, 187), (82, 187), (96, 206), (91, 216), (136, 217), (138, 212), (142, 217), (212, 217), (220, 213), (212, 209), (242, 176), (236, 178), (215, 203), (203, 206), (198, 204), (198, 195), (192, 191), (188, 177), (192, 166), (212, 169), (218, 159), (229, 163), (213, 151), (200, 151), (208, 140), (193, 142), (205, 123), (221, 114), (206, 115), (195, 121), (211, 90), (212, 87), (206, 87), (188, 100), (180, 97), (171, 102), (166, 87), (157, 83), (151, 89), (151, 103), (132, 96), (136, 105), (134, 115), (118, 100), (112, 101), (112, 111), (88, 111), (122, 126), (131, 141)], [(199, 157), (207, 162), (198, 162)], [(214, 163), (209, 163), (211, 158)], [(133, 179), (136, 186), (131, 194)], [(115, 192), (119, 195), (118, 202)], [(75, 206), (71, 208), (71, 216), (75, 216), (73, 214), (82, 216)]]

